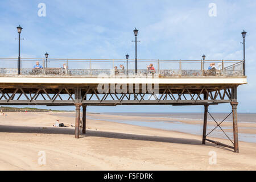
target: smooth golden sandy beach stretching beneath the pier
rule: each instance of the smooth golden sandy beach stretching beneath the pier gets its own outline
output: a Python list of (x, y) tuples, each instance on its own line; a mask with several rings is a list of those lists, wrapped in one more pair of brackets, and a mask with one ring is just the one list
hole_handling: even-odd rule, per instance
[[(119, 117), (107, 114), (87, 114), (86, 134), (75, 139), (75, 118), (65, 113), (6, 114), (0, 116), (0, 170), (256, 169), (256, 143), (240, 141), (237, 154), (212, 143), (202, 145), (200, 135), (104, 121)], [(68, 127), (53, 127), (56, 119)], [(238, 126), (255, 134), (255, 125)], [(229, 144), (227, 139), (212, 139)], [(46, 164), (38, 163), (40, 151), (46, 154)], [(209, 164), (210, 151), (216, 152), (216, 164)]]

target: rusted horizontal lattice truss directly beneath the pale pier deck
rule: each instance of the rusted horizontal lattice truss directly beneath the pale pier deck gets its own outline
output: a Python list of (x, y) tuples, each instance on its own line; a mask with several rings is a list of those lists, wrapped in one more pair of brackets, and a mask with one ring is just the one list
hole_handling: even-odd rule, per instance
[[(142, 85), (139, 85), (139, 88), (142, 88)], [(232, 90), (230, 91), (230, 89)], [(223, 92), (220, 92), (221, 90)], [(81, 102), (83, 105), (211, 105), (236, 101), (236, 86), (233, 85), (228, 88), (227, 86), (215, 85), (159, 85), (158, 94), (152, 93), (151, 88), (148, 88), (146, 93), (142, 93), (143, 90), (141, 89), (136, 91), (135, 88), (130, 90), (130, 93), (123, 94), (110, 93), (110, 89), (106, 90), (106, 93), (98, 93), (97, 91), (97, 85), (93, 84), (91, 86), (5, 84), (0, 85), (0, 104), (73, 105)], [(18, 97), (17, 99), (16, 94), (20, 93), (23, 93), (25, 97)], [(7, 94), (11, 94), (11, 96)], [(208, 97), (201, 98), (205, 94)], [(27, 95), (31, 98), (28, 98)], [(39, 95), (42, 98), (39, 98)]]

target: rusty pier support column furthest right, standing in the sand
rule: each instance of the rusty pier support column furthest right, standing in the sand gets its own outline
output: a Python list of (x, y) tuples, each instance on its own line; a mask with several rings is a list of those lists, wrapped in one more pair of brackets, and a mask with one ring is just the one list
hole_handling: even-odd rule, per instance
[(237, 129), (237, 105), (238, 102), (231, 102), (233, 113), (233, 135), (234, 135), (234, 152), (238, 153), (238, 129)]

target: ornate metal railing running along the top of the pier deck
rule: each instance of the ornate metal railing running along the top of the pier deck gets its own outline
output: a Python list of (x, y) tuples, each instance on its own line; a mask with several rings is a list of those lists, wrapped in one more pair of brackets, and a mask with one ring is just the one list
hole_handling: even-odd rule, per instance
[[(36, 62), (42, 69), (33, 69)], [(208, 69), (214, 63), (214, 69)], [(154, 70), (147, 66), (152, 64)], [(17, 58), (0, 58), (0, 75), (18, 75)], [(121, 69), (123, 65), (125, 69)], [(114, 67), (117, 66), (117, 69)], [(243, 76), (241, 60), (138, 60), (135, 74), (135, 60), (129, 59), (34, 59), (22, 58), (22, 76), (61, 77), (237, 77)], [(128, 68), (128, 69), (127, 69)]]

